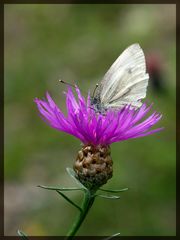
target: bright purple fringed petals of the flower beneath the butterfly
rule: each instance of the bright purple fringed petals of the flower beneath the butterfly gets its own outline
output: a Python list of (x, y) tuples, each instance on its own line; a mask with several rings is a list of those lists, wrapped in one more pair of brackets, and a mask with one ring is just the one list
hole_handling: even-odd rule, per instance
[(151, 129), (161, 119), (161, 114), (153, 112), (145, 118), (152, 104), (147, 107), (144, 103), (139, 109), (132, 109), (127, 105), (101, 114), (91, 106), (90, 95), (86, 100), (78, 87), (76, 92), (78, 101), (70, 87), (66, 93), (67, 115), (62, 113), (49, 93), (46, 93), (47, 100), (36, 98), (35, 103), (41, 116), (51, 127), (75, 136), (85, 145), (107, 146), (113, 142), (147, 136), (162, 129)]

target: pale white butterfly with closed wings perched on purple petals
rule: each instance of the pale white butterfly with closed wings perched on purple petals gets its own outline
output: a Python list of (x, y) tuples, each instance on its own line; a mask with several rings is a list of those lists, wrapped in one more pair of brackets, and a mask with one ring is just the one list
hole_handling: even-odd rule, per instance
[(97, 112), (122, 108), (126, 104), (139, 108), (145, 98), (149, 75), (139, 44), (126, 48), (116, 59), (97, 87), (91, 105)]

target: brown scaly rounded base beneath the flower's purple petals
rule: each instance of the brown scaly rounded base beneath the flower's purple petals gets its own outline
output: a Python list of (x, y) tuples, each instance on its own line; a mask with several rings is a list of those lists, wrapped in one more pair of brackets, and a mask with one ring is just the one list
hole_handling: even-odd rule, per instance
[(78, 152), (74, 171), (88, 189), (98, 189), (112, 177), (112, 158), (109, 146), (85, 145)]

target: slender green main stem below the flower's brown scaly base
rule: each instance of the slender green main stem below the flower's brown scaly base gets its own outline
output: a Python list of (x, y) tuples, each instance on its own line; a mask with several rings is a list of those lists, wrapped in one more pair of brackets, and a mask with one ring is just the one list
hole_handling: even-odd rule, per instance
[(67, 234), (66, 240), (73, 239), (73, 236), (75, 236), (76, 232), (78, 231), (81, 224), (83, 223), (88, 211), (92, 207), (94, 199), (95, 199), (94, 192), (92, 193), (89, 190), (87, 190), (84, 194), (84, 199), (83, 199), (83, 203), (82, 203), (82, 207), (81, 207), (82, 211), (79, 213), (75, 222), (73, 223), (72, 227), (70, 228), (70, 230)]

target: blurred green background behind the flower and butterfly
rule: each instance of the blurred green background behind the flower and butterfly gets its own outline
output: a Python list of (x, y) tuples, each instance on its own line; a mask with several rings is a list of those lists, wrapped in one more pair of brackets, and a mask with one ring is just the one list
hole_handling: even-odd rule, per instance
[(160, 56), (164, 90), (155, 91), (150, 79), (146, 101), (163, 114), (158, 127), (165, 129), (112, 145), (114, 176), (106, 188), (129, 191), (114, 202), (98, 198), (78, 234), (175, 235), (175, 14), (175, 4), (5, 5), (5, 235), (65, 235), (77, 213), (36, 187), (75, 186), (65, 168), (80, 142), (46, 125), (33, 99), (48, 90), (65, 111), (59, 78), (93, 90), (135, 42), (146, 56)]

